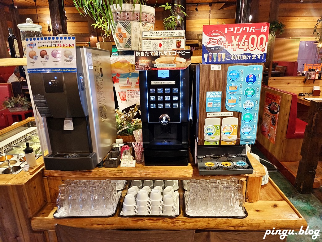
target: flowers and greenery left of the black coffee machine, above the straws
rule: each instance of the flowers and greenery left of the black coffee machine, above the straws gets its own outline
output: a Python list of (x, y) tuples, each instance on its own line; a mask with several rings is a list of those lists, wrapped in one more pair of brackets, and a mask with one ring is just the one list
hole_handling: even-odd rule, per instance
[(118, 135), (121, 135), (121, 136), (133, 135), (134, 130), (142, 129), (141, 119), (133, 118), (136, 112), (137, 112), (137, 105), (134, 108), (131, 107), (128, 113), (120, 110), (119, 107), (115, 109), (116, 128), (118, 131)]

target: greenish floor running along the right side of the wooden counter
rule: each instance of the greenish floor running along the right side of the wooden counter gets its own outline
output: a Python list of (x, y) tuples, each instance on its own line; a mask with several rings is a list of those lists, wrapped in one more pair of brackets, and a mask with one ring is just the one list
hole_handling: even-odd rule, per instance
[[(252, 153), (260, 156), (261, 159), (268, 160), (256, 146), (251, 147)], [(322, 202), (313, 194), (300, 194), (289, 181), (271, 164), (260, 160), (269, 171), (269, 176), (276, 185), (289, 198), (291, 203), (298, 209), (300, 214), (308, 223), (309, 229), (320, 229), (320, 236), (313, 240), (310, 235), (289, 235), (287, 241), (322, 241)], [(315, 190), (315, 193), (321, 192), (321, 188)], [(319, 196), (319, 195), (318, 195)]]

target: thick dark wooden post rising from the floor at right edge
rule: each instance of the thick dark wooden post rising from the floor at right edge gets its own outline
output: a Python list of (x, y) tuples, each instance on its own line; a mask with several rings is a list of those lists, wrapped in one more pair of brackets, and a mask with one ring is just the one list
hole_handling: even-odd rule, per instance
[[(311, 101), (308, 113), (312, 117), (305, 128), (295, 187), (300, 193), (311, 193), (319, 154), (322, 147), (322, 101)], [(292, 147), (289, 147), (292, 149)]]

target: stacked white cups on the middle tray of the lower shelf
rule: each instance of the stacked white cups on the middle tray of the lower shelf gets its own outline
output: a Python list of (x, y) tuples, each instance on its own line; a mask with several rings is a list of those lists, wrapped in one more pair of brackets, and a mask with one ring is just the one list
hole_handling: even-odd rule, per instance
[(161, 186), (156, 186), (152, 190), (149, 186), (144, 186), (140, 190), (139, 187), (132, 186), (124, 198), (122, 211), (124, 215), (172, 216), (176, 206), (175, 192), (171, 186), (164, 190)]

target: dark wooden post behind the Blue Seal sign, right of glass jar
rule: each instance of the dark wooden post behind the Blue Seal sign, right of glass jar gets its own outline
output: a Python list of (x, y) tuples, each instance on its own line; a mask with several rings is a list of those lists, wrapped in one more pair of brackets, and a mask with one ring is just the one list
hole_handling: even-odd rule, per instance
[(48, 0), (52, 34), (67, 34), (67, 21), (62, 0)]

